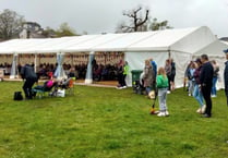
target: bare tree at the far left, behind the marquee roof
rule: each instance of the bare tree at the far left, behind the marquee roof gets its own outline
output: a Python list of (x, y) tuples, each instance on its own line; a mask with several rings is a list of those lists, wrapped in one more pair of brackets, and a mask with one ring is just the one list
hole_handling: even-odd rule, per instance
[(3, 10), (0, 14), (0, 38), (3, 40), (19, 37), (24, 17), (11, 10)]

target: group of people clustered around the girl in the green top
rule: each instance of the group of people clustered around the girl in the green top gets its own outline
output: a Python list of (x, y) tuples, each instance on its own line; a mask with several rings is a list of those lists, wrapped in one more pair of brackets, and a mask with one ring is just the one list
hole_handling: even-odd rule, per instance
[(155, 92), (158, 96), (159, 113), (158, 117), (169, 116), (167, 107), (167, 94), (175, 90), (176, 64), (172, 59), (167, 59), (164, 66), (157, 69), (153, 59), (145, 60), (142, 73), (143, 86), (146, 95)]

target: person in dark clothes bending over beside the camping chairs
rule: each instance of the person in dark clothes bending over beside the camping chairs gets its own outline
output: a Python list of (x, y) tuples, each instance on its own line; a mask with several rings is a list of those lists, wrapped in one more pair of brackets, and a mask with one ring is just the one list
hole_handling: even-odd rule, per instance
[(21, 69), (21, 76), (23, 78), (24, 85), (23, 85), (23, 90), (25, 94), (26, 99), (32, 99), (33, 98), (33, 93), (32, 93), (32, 87), (35, 82), (38, 81), (36, 73), (34, 72), (34, 68), (29, 64), (25, 64)]

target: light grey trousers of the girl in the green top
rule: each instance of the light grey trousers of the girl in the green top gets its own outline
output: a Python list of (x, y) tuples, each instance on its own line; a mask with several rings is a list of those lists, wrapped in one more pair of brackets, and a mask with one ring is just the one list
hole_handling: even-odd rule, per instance
[(166, 105), (167, 98), (167, 88), (158, 88), (158, 101), (159, 101), (159, 110), (165, 112), (168, 108)]

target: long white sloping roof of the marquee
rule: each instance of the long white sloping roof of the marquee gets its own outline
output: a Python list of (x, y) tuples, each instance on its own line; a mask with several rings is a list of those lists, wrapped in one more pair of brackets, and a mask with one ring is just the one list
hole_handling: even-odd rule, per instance
[(193, 53), (216, 40), (208, 27), (62, 38), (12, 39), (0, 42), (0, 53), (87, 51), (180, 51)]

